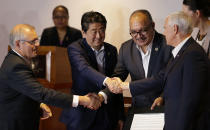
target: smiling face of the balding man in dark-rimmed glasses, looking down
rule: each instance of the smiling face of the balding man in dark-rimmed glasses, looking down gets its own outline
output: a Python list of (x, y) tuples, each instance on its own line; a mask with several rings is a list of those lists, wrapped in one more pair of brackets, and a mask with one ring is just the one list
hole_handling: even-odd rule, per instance
[(142, 13), (130, 18), (130, 34), (138, 46), (147, 46), (154, 36), (154, 23)]

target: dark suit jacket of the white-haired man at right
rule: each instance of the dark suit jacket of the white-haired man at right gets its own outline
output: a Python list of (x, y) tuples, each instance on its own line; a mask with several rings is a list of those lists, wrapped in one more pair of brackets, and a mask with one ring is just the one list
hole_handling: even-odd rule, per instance
[(131, 94), (162, 87), (165, 130), (209, 130), (208, 63), (203, 48), (190, 38), (161, 75), (131, 83)]

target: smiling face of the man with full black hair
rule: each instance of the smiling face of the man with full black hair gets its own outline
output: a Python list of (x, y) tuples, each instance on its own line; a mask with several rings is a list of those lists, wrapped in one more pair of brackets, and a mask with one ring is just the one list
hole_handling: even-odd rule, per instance
[(88, 45), (98, 50), (103, 45), (105, 39), (105, 30), (101, 23), (90, 23), (86, 32), (82, 31), (83, 37), (87, 40)]

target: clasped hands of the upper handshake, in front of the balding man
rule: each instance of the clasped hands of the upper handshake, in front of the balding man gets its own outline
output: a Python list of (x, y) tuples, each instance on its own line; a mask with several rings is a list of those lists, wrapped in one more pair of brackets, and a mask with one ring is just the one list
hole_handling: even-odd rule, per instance
[(118, 77), (107, 78), (105, 85), (108, 87), (109, 91), (115, 94), (123, 93), (123, 90), (129, 89), (129, 82), (122, 82)]

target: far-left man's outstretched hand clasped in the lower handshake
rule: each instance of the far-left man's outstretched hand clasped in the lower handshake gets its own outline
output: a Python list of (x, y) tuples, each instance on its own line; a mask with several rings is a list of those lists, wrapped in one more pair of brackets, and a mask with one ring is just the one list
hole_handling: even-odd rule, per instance
[(92, 110), (97, 110), (101, 106), (100, 97), (95, 93), (79, 96), (79, 105)]

